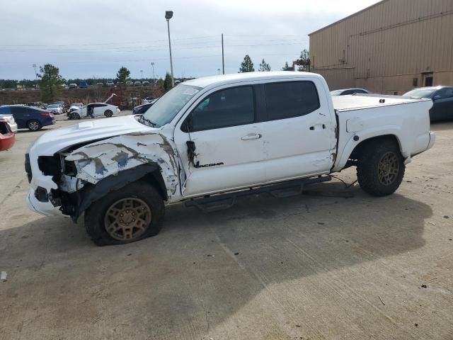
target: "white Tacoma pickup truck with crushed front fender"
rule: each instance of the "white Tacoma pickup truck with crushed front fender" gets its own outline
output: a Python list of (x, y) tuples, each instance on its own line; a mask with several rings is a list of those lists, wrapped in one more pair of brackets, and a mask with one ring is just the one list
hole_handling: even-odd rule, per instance
[[(185, 81), (143, 115), (86, 121), (30, 145), (28, 206), (84, 213), (96, 244), (157, 234), (165, 205), (210, 210), (238, 196), (285, 193), (357, 167), (374, 196), (394, 193), (411, 157), (430, 149), (432, 101), (332, 98), (306, 72), (231, 74)], [(300, 191), (298, 191), (300, 192)]]

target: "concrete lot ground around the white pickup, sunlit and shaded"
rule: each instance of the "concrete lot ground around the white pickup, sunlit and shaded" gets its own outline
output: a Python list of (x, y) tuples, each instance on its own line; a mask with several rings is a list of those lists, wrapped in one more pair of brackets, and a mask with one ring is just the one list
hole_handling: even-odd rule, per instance
[(173, 206), (158, 236), (106, 247), (25, 205), (24, 153), (50, 129), (0, 152), (0, 339), (453, 339), (453, 123), (392, 196), (332, 181)]

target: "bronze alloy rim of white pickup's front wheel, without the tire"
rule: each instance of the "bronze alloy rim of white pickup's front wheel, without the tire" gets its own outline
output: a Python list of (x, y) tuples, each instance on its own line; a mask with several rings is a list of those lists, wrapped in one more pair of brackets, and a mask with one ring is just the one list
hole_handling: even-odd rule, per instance
[(105, 212), (105, 231), (118, 241), (131, 241), (146, 232), (151, 223), (151, 209), (139, 198), (122, 198)]

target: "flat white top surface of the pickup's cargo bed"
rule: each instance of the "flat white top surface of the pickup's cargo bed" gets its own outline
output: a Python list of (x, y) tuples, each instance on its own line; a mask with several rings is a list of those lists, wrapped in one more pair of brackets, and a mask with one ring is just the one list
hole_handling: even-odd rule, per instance
[[(380, 101), (384, 101), (381, 103)], [(364, 108), (379, 108), (382, 106), (394, 106), (420, 101), (431, 101), (426, 98), (411, 98), (402, 96), (386, 96), (382, 94), (355, 94), (350, 96), (333, 96), (333, 108), (336, 111), (352, 111)]]

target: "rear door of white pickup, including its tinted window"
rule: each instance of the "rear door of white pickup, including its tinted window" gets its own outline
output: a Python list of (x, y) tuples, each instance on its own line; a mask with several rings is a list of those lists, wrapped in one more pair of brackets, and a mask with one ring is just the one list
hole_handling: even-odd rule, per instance
[(336, 119), (321, 81), (276, 81), (263, 87), (266, 180), (328, 173), (336, 152)]

